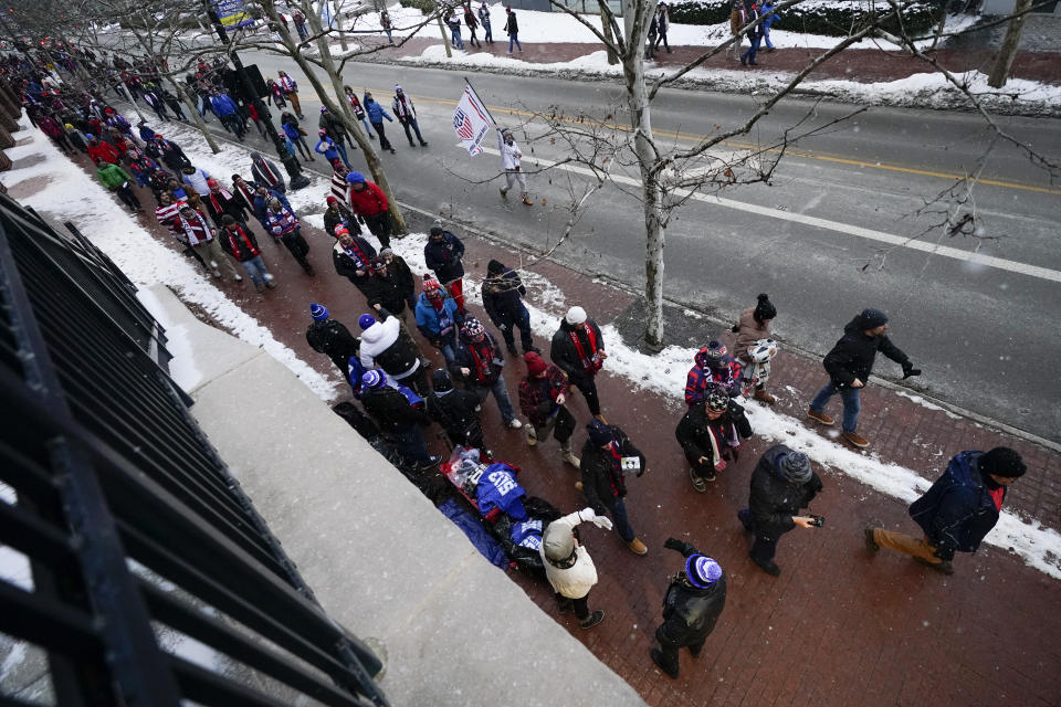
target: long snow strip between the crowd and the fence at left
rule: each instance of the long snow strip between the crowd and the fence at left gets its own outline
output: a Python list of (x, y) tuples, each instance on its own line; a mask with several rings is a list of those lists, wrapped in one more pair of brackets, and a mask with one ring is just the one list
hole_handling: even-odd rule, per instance
[[(4, 176), (4, 183), (12, 189), (27, 179), (46, 181), (44, 187), (23, 199), (23, 203), (51, 214), (56, 221), (73, 221), (134, 283), (139, 286), (165, 284), (181, 299), (202, 307), (240, 339), (264, 349), (321, 398), (330, 400), (335, 395), (333, 380), (316, 372), (294, 351), (274, 339), (269, 329), (240, 309), (191, 264), (192, 261), (156, 241), (92, 176), (78, 167), (72, 167), (43, 133), (30, 126), (27, 118), (21, 119), (21, 125), (23, 130), (17, 134), (20, 145), (7, 150), (15, 166)], [(200, 141), (201, 136), (196, 143)], [(192, 147), (191, 141), (183, 147)], [(245, 151), (232, 148), (222, 154), (232, 160), (239, 157), (240, 163), (248, 162), (249, 167)], [(188, 155), (191, 159), (199, 157), (196, 149), (188, 150)], [(18, 162), (25, 158), (31, 158), (27, 160), (30, 165), (20, 167)], [(206, 161), (199, 166), (207, 167), (208, 171), (213, 167), (219, 175), (232, 173), (231, 169), (224, 171), (227, 167), (221, 160), (210, 161), (209, 166)], [(228, 168), (233, 163), (229, 162)], [(186, 374), (191, 369), (179, 363), (178, 370)]]

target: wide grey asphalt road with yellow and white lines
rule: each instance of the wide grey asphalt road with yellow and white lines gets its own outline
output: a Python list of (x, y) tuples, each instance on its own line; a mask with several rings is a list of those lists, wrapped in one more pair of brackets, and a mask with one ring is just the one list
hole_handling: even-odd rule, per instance
[[(263, 75), (290, 60), (259, 54)], [(351, 64), (345, 83), (370, 88), (389, 109), (395, 83), (416, 101), (431, 146), (409, 148), (397, 123), (387, 124), (398, 149), (385, 155), (399, 199), (451, 214), (515, 245), (543, 251), (556, 243), (566, 207), (587, 178), (564, 169), (530, 177), (533, 208), (503, 201), (496, 187), (500, 159), (469, 157), (456, 143), (451, 116), (463, 74), (432, 68)], [(578, 115), (623, 120), (621, 91), (608, 83), (470, 76), (498, 123), (540, 135), (535, 112), (556, 106), (578, 125)], [(307, 82), (301, 96), (315, 127), (317, 103)], [(666, 91), (653, 104), (658, 136), (691, 146), (713, 130), (739, 125), (755, 96)], [(855, 107), (792, 99), (776, 107), (733, 150), (775, 145), (786, 129), (827, 126)], [(998, 118), (1000, 127), (1054, 160), (1061, 158), (1061, 122)], [(732, 187), (718, 197), (690, 200), (669, 225), (665, 289), (669, 297), (731, 321), (767, 292), (778, 307), (776, 333), (791, 346), (823, 355), (861, 308), (892, 317), (892, 338), (924, 370), (912, 388), (1034, 434), (1061, 440), (1061, 182), (1036, 168), (1026, 151), (990, 144), (983, 118), (969, 114), (870, 108), (791, 146), (769, 184)], [(495, 147), (495, 145), (494, 145)], [(534, 159), (560, 160), (560, 143), (535, 141)], [(725, 150), (723, 151), (725, 152)], [(355, 168), (364, 161), (351, 157)], [(981, 183), (971, 193), (980, 218), (975, 236), (948, 236), (933, 225), (950, 202), (926, 202), (981, 160)], [(525, 162), (526, 163), (526, 162)], [(588, 202), (570, 243), (555, 257), (634, 287), (643, 283), (643, 217), (634, 177), (618, 167), (617, 183)], [(484, 180), (491, 180), (485, 183)], [(543, 201), (545, 200), (545, 205)], [(456, 229), (460, 231), (460, 229)], [(908, 241), (907, 241), (908, 240)], [(914, 250), (941, 245), (947, 252)], [(914, 247), (911, 247), (911, 246)], [(1000, 258), (970, 262), (977, 251)], [(997, 266), (996, 266), (997, 265)], [(590, 307), (591, 308), (591, 307)], [(896, 377), (882, 359), (876, 372)], [(824, 382), (824, 373), (822, 374)]]

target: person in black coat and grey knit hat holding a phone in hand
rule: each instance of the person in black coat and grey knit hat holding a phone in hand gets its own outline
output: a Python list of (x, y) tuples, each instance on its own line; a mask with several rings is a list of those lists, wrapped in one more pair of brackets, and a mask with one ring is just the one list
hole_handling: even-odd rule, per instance
[(748, 507), (737, 511), (744, 529), (755, 535), (752, 561), (767, 574), (777, 577), (781, 568), (774, 562), (777, 541), (792, 528), (821, 527), (824, 518), (797, 515), (821, 490), (821, 479), (810, 468), (810, 458), (784, 444), (775, 444), (759, 457), (752, 472)]

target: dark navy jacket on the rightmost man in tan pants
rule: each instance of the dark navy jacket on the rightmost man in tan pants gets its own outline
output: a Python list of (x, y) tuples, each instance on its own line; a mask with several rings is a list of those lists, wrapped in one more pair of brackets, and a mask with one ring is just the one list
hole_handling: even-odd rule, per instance
[[(910, 506), (910, 517), (928, 540), (949, 559), (955, 550), (976, 552), (995, 524), (998, 509), (980, 475), (983, 452), (962, 452), (950, 458), (947, 471), (925, 495)], [(1002, 487), (1002, 498), (1006, 487)]]

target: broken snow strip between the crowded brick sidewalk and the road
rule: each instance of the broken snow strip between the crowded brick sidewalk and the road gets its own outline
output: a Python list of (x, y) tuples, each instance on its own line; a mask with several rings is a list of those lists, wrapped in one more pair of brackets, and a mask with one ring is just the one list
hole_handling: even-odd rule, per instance
[[(395, 253), (401, 255), (414, 273), (427, 272), (423, 260), (423, 243), (427, 238), (426, 233), (414, 233), (391, 243)], [(513, 263), (506, 264), (513, 266)], [(521, 271), (521, 277), (527, 285), (528, 302), (526, 304), (530, 312), (530, 326), (538, 336), (550, 338), (556, 331), (557, 321), (568, 307), (564, 294), (533, 271)], [(481, 286), (481, 277), (471, 273), (464, 275), (464, 296), (470, 302), (482, 304)], [(696, 350), (670, 346), (650, 356), (623, 344), (614, 326), (603, 326), (601, 331), (608, 342), (608, 360), (605, 361), (605, 369), (612, 376), (626, 378), (633, 388), (674, 398), (674, 419), (676, 420), (681, 414), (682, 405), (681, 400), (675, 398), (677, 394), (675, 391), (684, 389), (685, 376)], [(514, 373), (510, 370), (507, 376), (510, 384), (514, 383)], [(827, 439), (817, 430), (806, 426), (790, 415), (776, 412), (769, 405), (750, 400), (744, 401), (743, 404), (757, 436), (805, 452), (815, 462), (832, 472), (847, 474), (904, 504), (913, 503), (932, 485), (931, 481), (913, 469), (882, 462), (875, 453), (868, 455), (834, 441), (839, 437), (837, 432)], [(1061, 534), (1043, 527), (1037, 520), (1023, 520), (1011, 510), (1002, 510), (998, 525), (988, 534), (986, 542), (1009, 550), (1027, 564), (1050, 577), (1061, 579)]]

